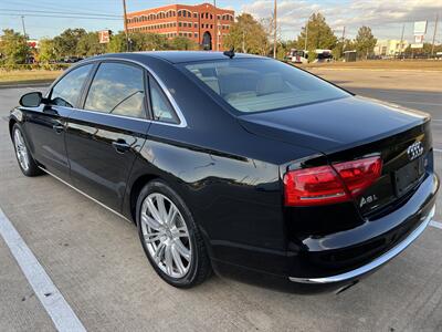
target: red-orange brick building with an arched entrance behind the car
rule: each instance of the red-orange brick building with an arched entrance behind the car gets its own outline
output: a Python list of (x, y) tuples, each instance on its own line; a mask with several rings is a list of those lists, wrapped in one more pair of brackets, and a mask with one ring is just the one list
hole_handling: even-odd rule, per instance
[[(206, 50), (222, 51), (223, 39), (234, 21), (234, 11), (210, 3), (169, 4), (127, 13), (128, 31), (159, 33), (168, 39), (186, 37)], [(217, 29), (218, 25), (218, 29)]]

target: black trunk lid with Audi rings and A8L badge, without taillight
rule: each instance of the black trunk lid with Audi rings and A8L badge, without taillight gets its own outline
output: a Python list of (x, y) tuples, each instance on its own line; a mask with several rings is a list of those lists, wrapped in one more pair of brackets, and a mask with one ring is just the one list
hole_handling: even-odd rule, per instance
[(355, 198), (364, 216), (403, 200), (432, 167), (429, 115), (361, 97), (240, 116), (256, 135), (322, 152), (328, 163), (379, 155), (381, 177)]

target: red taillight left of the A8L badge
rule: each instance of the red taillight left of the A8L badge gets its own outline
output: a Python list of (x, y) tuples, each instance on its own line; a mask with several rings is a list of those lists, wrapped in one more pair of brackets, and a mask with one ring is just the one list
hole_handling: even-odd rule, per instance
[(381, 175), (380, 157), (291, 170), (284, 176), (285, 205), (314, 206), (348, 201)]

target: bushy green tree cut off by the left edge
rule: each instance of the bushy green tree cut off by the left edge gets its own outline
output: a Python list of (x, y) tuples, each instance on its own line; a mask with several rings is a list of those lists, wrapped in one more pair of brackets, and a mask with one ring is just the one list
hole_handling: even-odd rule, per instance
[(2, 54), (2, 62), (6, 65), (11, 66), (25, 63), (28, 56), (31, 55), (31, 49), (23, 34), (12, 29), (4, 29), (0, 40), (0, 53)]

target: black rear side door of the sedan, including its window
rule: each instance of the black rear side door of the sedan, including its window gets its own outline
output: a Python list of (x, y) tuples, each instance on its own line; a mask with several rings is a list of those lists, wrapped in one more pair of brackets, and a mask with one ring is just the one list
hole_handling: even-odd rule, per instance
[(134, 160), (146, 142), (147, 103), (144, 69), (104, 61), (88, 84), (82, 110), (74, 110), (67, 120), (73, 185), (117, 211)]

